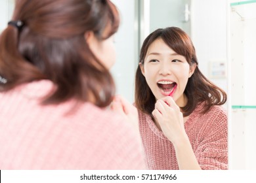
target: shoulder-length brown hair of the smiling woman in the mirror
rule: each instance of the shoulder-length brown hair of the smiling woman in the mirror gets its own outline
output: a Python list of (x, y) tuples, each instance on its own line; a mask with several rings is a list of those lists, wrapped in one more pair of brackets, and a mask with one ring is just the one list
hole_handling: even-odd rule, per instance
[[(221, 88), (210, 82), (198, 69), (198, 59), (196, 58), (196, 50), (188, 35), (178, 27), (167, 27), (165, 29), (157, 29), (150, 33), (144, 40), (140, 50), (140, 63), (144, 64), (144, 59), (148, 51), (148, 47), (156, 39), (162, 39), (177, 54), (184, 56), (189, 65), (196, 64), (194, 74), (188, 78), (188, 83), (184, 93), (188, 98), (188, 103), (181, 107), (183, 116), (190, 115), (196, 106), (204, 103), (202, 113), (207, 112), (213, 105), (223, 105), (226, 102), (226, 93)], [(150, 90), (146, 79), (142, 75), (138, 65), (135, 76), (135, 105), (139, 110), (146, 114), (152, 115), (156, 97)]]

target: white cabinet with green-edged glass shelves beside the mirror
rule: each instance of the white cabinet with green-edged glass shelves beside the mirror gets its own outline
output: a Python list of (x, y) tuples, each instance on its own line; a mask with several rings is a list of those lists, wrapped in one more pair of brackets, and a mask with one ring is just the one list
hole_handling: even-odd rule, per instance
[(230, 1), (230, 169), (256, 169), (256, 1)]

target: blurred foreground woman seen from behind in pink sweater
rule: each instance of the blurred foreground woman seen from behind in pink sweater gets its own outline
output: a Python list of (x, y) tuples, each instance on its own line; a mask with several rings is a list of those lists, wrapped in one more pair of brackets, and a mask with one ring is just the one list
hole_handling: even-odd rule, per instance
[(16, 1), (0, 37), (0, 169), (146, 168), (136, 108), (107, 109), (118, 25), (109, 0)]

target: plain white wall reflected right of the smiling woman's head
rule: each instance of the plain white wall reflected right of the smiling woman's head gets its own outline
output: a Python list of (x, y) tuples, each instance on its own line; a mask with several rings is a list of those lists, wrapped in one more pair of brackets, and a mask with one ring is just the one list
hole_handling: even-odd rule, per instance
[(227, 63), (226, 1), (191, 0), (191, 38), (200, 71), (227, 92), (226, 76), (214, 78), (210, 75), (211, 63)]

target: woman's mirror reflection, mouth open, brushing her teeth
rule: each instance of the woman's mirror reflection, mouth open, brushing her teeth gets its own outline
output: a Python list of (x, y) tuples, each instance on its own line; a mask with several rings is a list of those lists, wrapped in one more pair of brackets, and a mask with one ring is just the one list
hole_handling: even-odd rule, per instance
[(135, 105), (150, 169), (227, 169), (226, 93), (198, 68), (192, 41), (177, 27), (145, 39)]

